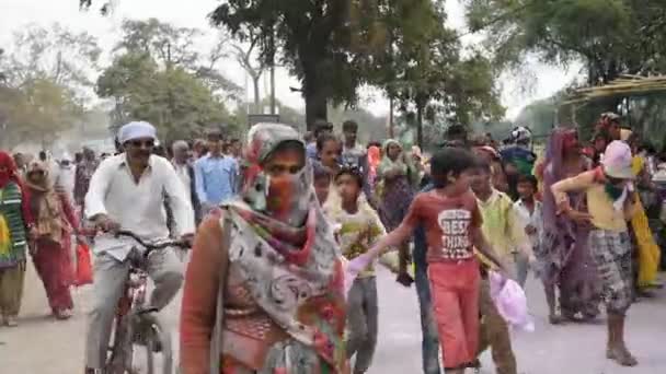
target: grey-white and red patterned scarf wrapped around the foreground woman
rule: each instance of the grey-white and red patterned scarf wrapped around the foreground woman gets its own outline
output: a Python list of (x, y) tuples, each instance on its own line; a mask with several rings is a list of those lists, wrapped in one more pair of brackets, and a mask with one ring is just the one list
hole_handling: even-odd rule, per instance
[[(305, 167), (276, 180), (263, 164), (285, 142), (302, 147)], [(340, 248), (317, 202), (312, 170), (298, 132), (260, 124), (249, 132), (241, 196), (223, 208), (231, 223), (229, 260), (256, 304), (290, 337), (271, 348), (261, 373), (340, 373), (344, 366), (344, 274)], [(279, 199), (280, 218), (268, 211)], [(274, 204), (271, 204), (274, 206)], [(301, 363), (301, 364), (299, 364)]]

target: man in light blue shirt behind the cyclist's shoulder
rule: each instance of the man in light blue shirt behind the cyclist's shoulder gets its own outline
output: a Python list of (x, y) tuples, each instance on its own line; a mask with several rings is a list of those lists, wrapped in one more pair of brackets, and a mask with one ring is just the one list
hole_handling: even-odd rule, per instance
[(236, 195), (239, 175), (236, 159), (222, 154), (221, 132), (210, 131), (207, 140), (208, 154), (194, 164), (196, 194), (204, 214)]

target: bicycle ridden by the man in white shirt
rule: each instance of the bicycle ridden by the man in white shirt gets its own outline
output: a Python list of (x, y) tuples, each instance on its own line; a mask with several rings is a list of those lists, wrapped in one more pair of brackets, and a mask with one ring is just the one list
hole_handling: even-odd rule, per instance
[[(106, 360), (107, 374), (139, 374), (134, 366), (136, 347), (141, 346), (146, 350), (146, 367), (148, 374), (172, 374), (173, 351), (171, 336), (164, 324), (156, 314), (154, 307), (146, 307), (146, 294), (148, 288), (148, 272), (146, 265), (148, 257), (153, 250), (168, 247), (186, 248), (182, 241), (165, 241), (159, 244), (148, 244), (129, 231), (119, 231), (116, 237), (125, 236), (134, 239), (136, 244), (146, 250), (140, 253), (134, 246), (129, 255), (129, 272), (125, 281), (123, 296), (116, 307), (114, 320), (113, 343), (108, 347), (110, 354)], [(156, 365), (156, 353), (162, 355), (161, 372)]]

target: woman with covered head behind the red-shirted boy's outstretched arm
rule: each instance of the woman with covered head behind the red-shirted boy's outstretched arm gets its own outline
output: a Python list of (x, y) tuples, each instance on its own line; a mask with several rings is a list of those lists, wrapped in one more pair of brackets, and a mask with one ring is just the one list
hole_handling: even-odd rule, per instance
[[(380, 196), (379, 217), (387, 232), (395, 230), (406, 215), (418, 184), (418, 171), (413, 167), (402, 145), (394, 139), (383, 143), (383, 155), (377, 168)], [(400, 246), (400, 274), (406, 273), (409, 245)]]

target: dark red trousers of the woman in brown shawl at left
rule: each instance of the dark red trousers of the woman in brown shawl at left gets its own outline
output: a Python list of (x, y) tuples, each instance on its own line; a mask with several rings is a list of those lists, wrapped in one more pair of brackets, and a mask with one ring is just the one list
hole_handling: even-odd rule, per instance
[(74, 307), (69, 292), (73, 276), (70, 243), (69, 235), (64, 235), (61, 243), (37, 241), (37, 253), (33, 256), (33, 264), (54, 313)]

